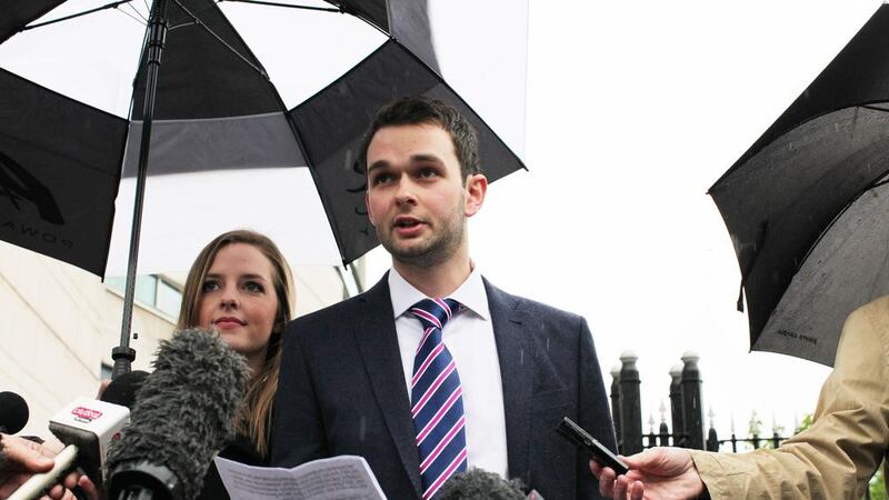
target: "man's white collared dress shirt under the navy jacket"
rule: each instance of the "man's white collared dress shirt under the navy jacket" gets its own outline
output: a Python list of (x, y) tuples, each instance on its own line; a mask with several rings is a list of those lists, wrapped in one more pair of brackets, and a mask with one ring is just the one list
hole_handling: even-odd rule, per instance
[[(423, 329), (417, 318), (406, 312), (411, 306), (429, 297), (408, 283), (394, 269), (389, 271), (389, 292), (394, 311), (401, 367), (404, 370), (404, 386), (410, 394), (413, 356)], [(488, 293), (478, 269), (472, 270), (457, 291), (442, 297), (448, 298), (466, 308), (444, 324), (442, 339), (457, 364), (463, 389), (467, 462), (470, 468), (485, 469), (507, 478), (507, 427), (500, 359), (497, 356), (491, 314), (488, 310)]]

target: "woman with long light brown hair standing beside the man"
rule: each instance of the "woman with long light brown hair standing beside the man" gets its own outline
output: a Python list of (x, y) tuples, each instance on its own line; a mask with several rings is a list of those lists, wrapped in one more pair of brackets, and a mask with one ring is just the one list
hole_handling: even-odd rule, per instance
[[(179, 329), (212, 329), (247, 358), (252, 371), (234, 420), (238, 438), (219, 454), (264, 466), (278, 389), (281, 333), (291, 318), (290, 268), (267, 237), (247, 230), (220, 234), (201, 250), (186, 279)], [(227, 499), (211, 464), (199, 499)]]

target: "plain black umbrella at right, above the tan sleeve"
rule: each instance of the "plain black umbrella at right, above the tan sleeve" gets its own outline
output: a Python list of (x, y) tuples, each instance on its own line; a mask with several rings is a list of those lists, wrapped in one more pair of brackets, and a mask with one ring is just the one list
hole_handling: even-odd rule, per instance
[(751, 349), (832, 364), (845, 318), (889, 293), (888, 174), (883, 4), (710, 188), (741, 268)]

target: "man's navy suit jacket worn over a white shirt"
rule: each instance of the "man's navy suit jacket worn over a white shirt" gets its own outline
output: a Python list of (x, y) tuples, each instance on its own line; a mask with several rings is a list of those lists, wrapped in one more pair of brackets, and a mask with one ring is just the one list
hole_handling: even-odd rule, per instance
[[(547, 500), (599, 498), (588, 460), (556, 432), (570, 417), (615, 450), (599, 362), (583, 318), (487, 280), (503, 383), (509, 473)], [(367, 459), (391, 500), (420, 498), (410, 397), (387, 277), (367, 292), (293, 320), (283, 336), (271, 464), (338, 454)]]

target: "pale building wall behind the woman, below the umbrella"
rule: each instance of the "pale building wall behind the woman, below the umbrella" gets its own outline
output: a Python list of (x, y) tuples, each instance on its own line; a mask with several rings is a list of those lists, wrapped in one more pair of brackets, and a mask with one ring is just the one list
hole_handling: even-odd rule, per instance
[[(337, 268), (293, 268), (297, 316), (348, 296)], [(181, 278), (179, 280), (181, 281)], [(123, 298), (86, 271), (0, 241), (0, 391), (30, 409), (23, 434), (47, 437), (47, 421), (76, 397), (96, 397), (102, 364), (120, 341)], [(150, 370), (176, 318), (137, 303), (134, 370)]]

